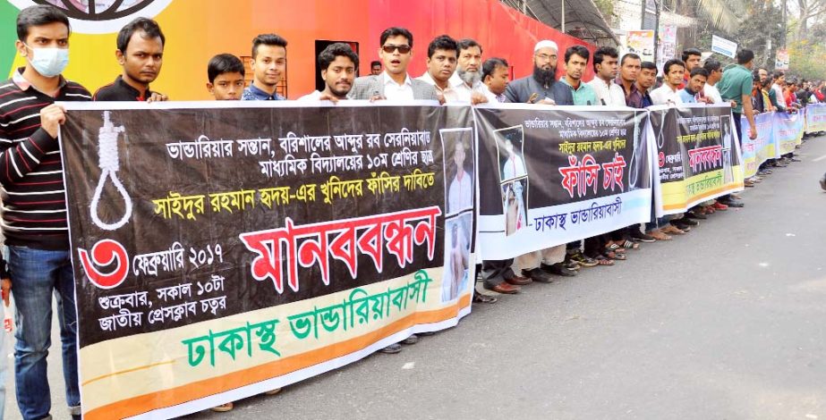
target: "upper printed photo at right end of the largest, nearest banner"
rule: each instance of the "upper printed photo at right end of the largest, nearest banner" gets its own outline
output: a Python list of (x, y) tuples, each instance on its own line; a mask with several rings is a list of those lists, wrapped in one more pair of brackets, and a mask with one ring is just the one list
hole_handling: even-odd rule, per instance
[(442, 140), (443, 167), (445, 173), (445, 203), (447, 215), (473, 209), (473, 129), (439, 130)]

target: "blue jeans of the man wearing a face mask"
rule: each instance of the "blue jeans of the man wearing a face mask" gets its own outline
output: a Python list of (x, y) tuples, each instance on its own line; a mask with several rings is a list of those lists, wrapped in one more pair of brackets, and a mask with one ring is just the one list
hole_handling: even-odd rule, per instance
[(9, 273), (16, 307), (14, 379), (17, 406), (24, 419), (49, 416), (52, 407), (46, 357), (52, 345), (52, 294), (63, 344), (66, 401), (80, 415), (74, 277), (69, 251), (9, 247)]

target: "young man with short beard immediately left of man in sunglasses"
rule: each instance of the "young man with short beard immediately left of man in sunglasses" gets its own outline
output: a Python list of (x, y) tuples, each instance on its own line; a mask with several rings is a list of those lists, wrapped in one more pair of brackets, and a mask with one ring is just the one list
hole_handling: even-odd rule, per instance
[(355, 69), (359, 68), (359, 56), (353, 53), (353, 48), (343, 42), (330, 44), (319, 54), (319, 68), (321, 79), (324, 80), (324, 90), (316, 90), (309, 95), (300, 97), (300, 101), (331, 101), (334, 104), (346, 99), (353, 88)]

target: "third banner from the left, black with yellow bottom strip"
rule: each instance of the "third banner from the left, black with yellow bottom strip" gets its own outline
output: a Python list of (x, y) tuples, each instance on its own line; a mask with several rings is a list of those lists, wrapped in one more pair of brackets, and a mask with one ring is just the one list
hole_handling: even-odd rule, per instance
[[(684, 213), (743, 189), (737, 131), (728, 105), (651, 106), (657, 216)], [(745, 131), (744, 131), (745, 132)]]

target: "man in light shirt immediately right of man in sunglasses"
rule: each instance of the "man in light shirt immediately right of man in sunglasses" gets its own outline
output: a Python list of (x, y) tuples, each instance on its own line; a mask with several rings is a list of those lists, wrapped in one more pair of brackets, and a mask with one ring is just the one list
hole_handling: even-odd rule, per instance
[(459, 100), (456, 89), (451, 86), (451, 77), (456, 72), (456, 56), (459, 46), (454, 38), (441, 35), (430, 41), (428, 46), (427, 71), (416, 80), (422, 80), (436, 88), (439, 102)]

